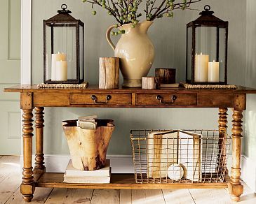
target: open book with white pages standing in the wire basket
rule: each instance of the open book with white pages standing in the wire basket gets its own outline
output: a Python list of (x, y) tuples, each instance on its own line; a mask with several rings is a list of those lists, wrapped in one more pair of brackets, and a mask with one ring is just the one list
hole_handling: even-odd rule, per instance
[(189, 131), (155, 131), (147, 137), (147, 173), (149, 177), (167, 176), (168, 167), (177, 163), (184, 177), (201, 180), (201, 135)]

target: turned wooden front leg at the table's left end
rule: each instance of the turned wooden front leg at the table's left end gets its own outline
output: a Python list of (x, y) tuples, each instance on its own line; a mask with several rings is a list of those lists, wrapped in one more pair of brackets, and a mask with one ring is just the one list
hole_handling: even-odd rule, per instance
[(20, 192), (26, 202), (30, 202), (34, 194), (34, 177), (32, 170), (32, 137), (33, 137), (33, 113), (32, 109), (23, 110), (22, 138), (23, 138), (23, 172)]

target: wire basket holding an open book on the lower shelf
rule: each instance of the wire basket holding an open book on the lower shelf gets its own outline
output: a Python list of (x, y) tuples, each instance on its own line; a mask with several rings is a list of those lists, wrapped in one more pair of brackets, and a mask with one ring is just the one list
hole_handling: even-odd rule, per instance
[(218, 130), (132, 130), (137, 183), (224, 182), (231, 137)]

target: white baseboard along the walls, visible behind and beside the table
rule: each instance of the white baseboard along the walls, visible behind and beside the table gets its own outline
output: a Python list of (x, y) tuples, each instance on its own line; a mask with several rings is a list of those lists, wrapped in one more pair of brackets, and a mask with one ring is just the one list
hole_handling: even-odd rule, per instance
[[(20, 156), (22, 161), (22, 156)], [(46, 171), (52, 173), (64, 173), (69, 162), (69, 155), (45, 155)], [(111, 160), (112, 173), (134, 173), (133, 157), (131, 155), (107, 155)], [(33, 156), (34, 161), (34, 156)], [(22, 162), (21, 162), (22, 163)], [(231, 172), (232, 156), (228, 156), (227, 168)], [(256, 165), (246, 156), (241, 158), (242, 175), (245, 184), (256, 192)]]

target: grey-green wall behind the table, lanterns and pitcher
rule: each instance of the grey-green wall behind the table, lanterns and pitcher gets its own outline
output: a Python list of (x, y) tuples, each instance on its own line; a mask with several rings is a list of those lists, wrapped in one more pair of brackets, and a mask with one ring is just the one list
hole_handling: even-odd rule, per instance
[[(98, 58), (114, 54), (105, 39), (105, 31), (115, 22), (100, 8), (95, 7), (97, 15), (92, 16), (90, 6), (79, 0), (32, 1), (32, 82), (43, 81), (42, 21), (55, 15), (62, 3), (67, 3), (72, 15), (86, 25), (85, 78), (91, 85), (97, 84)], [(202, 10), (206, 4), (210, 4), (217, 17), (229, 21), (229, 83), (245, 85), (246, 3), (240, 0), (208, 0), (194, 8)], [(195, 20), (198, 13), (198, 10), (175, 11), (173, 19), (163, 17), (149, 29), (149, 36), (156, 48), (153, 67), (177, 68), (177, 81), (185, 79), (186, 24)], [(151, 68), (149, 75), (154, 75), (154, 68)], [(116, 131), (108, 154), (130, 154), (130, 129), (214, 129), (217, 128), (217, 113), (216, 108), (46, 108), (45, 153), (69, 154), (61, 121), (79, 115), (97, 114), (100, 118), (114, 119)]]

